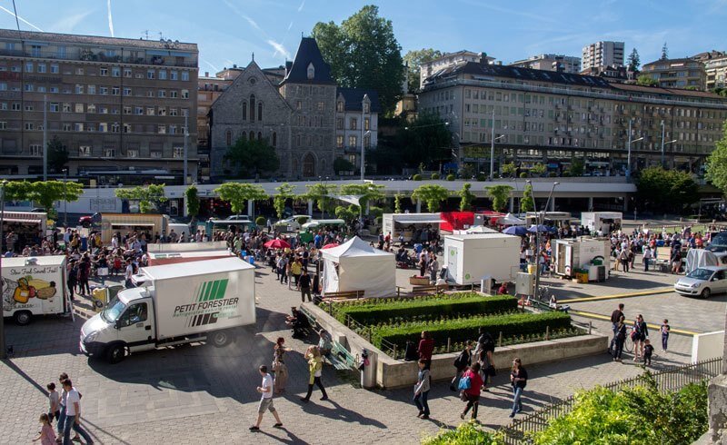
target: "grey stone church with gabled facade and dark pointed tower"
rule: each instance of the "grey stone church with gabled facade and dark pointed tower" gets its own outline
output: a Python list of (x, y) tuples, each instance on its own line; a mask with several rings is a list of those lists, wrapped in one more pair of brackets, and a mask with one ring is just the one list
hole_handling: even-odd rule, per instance
[(254, 137), (267, 140), (280, 158), (274, 177), (333, 176), (336, 84), (318, 44), (304, 37), (278, 84), (266, 71), (251, 62), (212, 104), (211, 175), (234, 174), (224, 154), (238, 138)]

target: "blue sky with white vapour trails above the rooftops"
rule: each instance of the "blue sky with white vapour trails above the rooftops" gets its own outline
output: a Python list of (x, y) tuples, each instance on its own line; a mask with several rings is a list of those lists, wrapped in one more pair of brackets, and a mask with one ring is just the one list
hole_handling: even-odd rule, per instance
[[(115, 35), (199, 44), (200, 71), (293, 57), (300, 35), (319, 21), (340, 23), (363, 5), (392, 20), (403, 53), (433, 47), (486, 52), (507, 64), (533, 54), (581, 55), (584, 44), (624, 41), (642, 64), (727, 50), (727, 0), (15, 0), (22, 29)], [(110, 9), (109, 9), (110, 6)], [(11, 0), (0, 0), (0, 27), (15, 28)]]

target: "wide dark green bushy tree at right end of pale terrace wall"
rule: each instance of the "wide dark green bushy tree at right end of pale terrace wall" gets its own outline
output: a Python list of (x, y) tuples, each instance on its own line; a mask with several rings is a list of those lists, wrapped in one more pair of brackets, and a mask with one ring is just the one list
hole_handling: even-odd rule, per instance
[(699, 199), (699, 186), (690, 173), (649, 167), (639, 173), (636, 196), (643, 208), (681, 213)]

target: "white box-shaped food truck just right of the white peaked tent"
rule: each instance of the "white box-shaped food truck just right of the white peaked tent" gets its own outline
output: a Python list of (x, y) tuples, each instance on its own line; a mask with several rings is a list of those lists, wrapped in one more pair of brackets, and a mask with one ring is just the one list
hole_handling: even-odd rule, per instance
[(503, 233), (470, 233), (444, 237), (447, 281), (480, 282), (489, 276), (496, 282), (512, 282), (520, 271), (520, 237)]

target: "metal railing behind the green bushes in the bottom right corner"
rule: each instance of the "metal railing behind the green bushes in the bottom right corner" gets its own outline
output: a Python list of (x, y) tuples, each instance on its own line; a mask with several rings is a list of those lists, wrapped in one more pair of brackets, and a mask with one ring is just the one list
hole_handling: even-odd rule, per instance
[[(697, 361), (689, 365), (673, 367), (663, 371), (652, 372), (652, 378), (657, 388), (662, 392), (679, 391), (690, 383), (699, 383), (712, 379), (722, 372), (722, 357)], [(620, 391), (625, 388), (633, 388), (643, 383), (645, 374), (631, 379), (614, 381), (602, 385), (611, 391)], [(573, 410), (575, 404), (574, 396), (563, 401), (558, 401), (545, 408), (529, 414), (521, 420), (513, 420), (509, 425), (503, 426), (500, 432), (503, 433), (504, 442), (507, 445), (532, 443), (532, 435), (548, 428), (550, 421), (566, 415)]]

